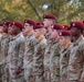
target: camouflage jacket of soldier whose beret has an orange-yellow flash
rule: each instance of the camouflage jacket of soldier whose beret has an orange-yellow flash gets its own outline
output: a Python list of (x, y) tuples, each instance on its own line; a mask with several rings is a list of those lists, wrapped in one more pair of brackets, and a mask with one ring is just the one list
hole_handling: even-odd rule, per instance
[(9, 43), (8, 62), (11, 69), (23, 69), (24, 36), (20, 33)]

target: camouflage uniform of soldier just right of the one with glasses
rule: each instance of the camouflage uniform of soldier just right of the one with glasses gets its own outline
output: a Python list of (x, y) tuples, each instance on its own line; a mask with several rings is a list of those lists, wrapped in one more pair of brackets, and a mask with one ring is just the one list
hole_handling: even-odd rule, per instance
[(42, 38), (36, 43), (34, 48), (34, 56), (33, 56), (34, 82), (44, 82), (43, 58), (44, 58), (45, 46), (46, 46), (46, 39)]

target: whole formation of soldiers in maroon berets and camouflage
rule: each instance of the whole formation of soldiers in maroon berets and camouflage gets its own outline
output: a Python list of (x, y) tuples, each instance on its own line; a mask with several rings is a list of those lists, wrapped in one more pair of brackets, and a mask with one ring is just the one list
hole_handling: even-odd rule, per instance
[(84, 82), (84, 21), (55, 21), (0, 24), (0, 82)]

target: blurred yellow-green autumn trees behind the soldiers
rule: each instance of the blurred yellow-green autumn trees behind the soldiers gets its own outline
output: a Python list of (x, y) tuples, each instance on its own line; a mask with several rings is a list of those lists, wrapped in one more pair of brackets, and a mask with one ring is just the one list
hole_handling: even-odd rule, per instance
[(44, 13), (53, 13), (57, 23), (84, 20), (84, 0), (0, 0), (0, 22), (4, 20), (42, 21)]

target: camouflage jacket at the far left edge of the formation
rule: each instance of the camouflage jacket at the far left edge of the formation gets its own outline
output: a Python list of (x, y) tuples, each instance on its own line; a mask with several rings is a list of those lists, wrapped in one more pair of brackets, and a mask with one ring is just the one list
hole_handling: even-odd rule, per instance
[(4, 35), (0, 38), (0, 63), (7, 62), (10, 35)]

